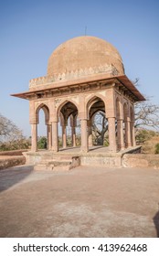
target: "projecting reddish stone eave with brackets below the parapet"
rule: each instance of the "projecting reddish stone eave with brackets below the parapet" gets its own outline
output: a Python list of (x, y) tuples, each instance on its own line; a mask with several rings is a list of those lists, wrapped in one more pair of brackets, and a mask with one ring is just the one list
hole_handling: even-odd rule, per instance
[[(115, 86), (114, 86), (115, 85)], [(46, 99), (51, 97), (73, 95), (81, 92), (101, 91), (113, 87), (132, 101), (144, 101), (143, 95), (138, 91), (126, 76), (112, 76), (110, 74), (97, 74), (78, 80), (60, 81), (46, 86), (40, 86), (32, 90), (12, 94), (26, 100)]]

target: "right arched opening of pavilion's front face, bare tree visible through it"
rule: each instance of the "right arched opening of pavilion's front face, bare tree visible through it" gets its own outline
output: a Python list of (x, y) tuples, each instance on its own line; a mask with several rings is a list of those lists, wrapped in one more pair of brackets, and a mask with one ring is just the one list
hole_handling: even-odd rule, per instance
[(89, 147), (93, 145), (108, 145), (108, 120), (105, 116), (105, 104), (99, 97), (94, 97), (88, 103)]

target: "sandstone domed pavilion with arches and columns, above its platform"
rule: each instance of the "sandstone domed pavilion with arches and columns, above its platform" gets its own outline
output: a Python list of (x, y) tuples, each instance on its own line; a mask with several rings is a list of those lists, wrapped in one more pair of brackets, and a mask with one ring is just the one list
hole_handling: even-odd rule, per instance
[(80, 152), (89, 152), (91, 124), (98, 111), (108, 120), (109, 152), (135, 146), (133, 105), (144, 98), (126, 77), (118, 50), (101, 38), (74, 37), (59, 45), (48, 59), (47, 75), (30, 80), (29, 91), (14, 96), (29, 101), (32, 152), (37, 151), (40, 109), (45, 112), (50, 151), (58, 152), (58, 122), (63, 148), (67, 147), (68, 120), (76, 146), (79, 118)]

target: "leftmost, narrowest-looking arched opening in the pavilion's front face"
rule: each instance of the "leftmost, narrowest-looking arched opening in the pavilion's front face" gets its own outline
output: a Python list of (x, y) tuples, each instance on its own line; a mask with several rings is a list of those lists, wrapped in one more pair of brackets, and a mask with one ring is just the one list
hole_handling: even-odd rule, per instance
[(48, 106), (41, 104), (37, 108), (37, 149), (50, 149), (51, 147), (51, 127), (49, 124)]

